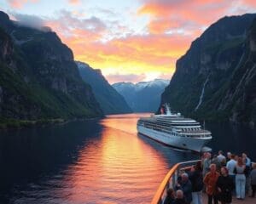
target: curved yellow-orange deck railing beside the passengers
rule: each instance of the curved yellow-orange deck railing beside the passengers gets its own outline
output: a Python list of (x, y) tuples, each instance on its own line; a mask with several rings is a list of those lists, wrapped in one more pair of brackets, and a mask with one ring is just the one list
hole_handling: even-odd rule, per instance
[(191, 166), (194, 165), (197, 161), (200, 161), (200, 160), (184, 161), (184, 162), (175, 164), (171, 168), (171, 170), (166, 174), (166, 177), (161, 182), (158, 190), (156, 191), (156, 193), (154, 195), (153, 200), (151, 201), (151, 204), (164, 203), (164, 201), (166, 199), (166, 192), (170, 187), (174, 188), (179, 171), (187, 170), (187, 169), (191, 168)]

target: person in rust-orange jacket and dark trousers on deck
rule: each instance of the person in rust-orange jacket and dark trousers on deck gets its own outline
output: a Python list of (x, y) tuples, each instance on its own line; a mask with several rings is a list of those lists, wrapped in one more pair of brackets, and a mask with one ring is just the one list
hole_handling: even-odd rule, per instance
[(212, 199), (214, 204), (218, 204), (216, 183), (219, 177), (219, 173), (216, 171), (216, 164), (210, 165), (210, 172), (204, 178), (204, 183), (207, 186), (208, 204), (212, 204)]

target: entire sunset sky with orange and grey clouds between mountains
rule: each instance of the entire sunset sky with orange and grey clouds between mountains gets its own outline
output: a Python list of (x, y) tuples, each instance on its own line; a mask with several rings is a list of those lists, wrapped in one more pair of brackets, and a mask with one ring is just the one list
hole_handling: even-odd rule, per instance
[(113, 83), (170, 79), (207, 26), (256, 13), (256, 0), (1, 0), (0, 9), (28, 26), (51, 27), (75, 59)]

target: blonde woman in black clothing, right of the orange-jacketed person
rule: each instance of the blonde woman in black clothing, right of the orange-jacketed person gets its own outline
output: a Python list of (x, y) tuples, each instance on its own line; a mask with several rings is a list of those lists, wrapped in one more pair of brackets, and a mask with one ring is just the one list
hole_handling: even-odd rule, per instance
[(218, 177), (216, 184), (218, 190), (218, 200), (221, 204), (232, 202), (232, 190), (234, 190), (233, 179), (229, 177), (229, 170), (226, 167), (221, 168), (221, 176)]

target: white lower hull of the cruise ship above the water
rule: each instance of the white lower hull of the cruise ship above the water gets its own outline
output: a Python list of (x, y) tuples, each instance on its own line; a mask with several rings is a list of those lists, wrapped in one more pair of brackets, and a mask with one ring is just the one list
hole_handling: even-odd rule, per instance
[(211, 138), (191, 138), (174, 136), (170, 133), (163, 133), (147, 127), (137, 126), (138, 133), (148, 138), (154, 139), (160, 143), (186, 150), (194, 150), (200, 152), (202, 147), (211, 140)]

